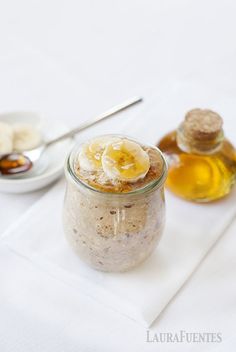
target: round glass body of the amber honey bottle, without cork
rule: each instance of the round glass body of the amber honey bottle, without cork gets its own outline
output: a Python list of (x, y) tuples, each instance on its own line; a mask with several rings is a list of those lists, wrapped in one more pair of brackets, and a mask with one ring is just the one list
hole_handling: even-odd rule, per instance
[(181, 145), (178, 132), (170, 132), (158, 143), (169, 165), (166, 186), (177, 196), (197, 202), (226, 196), (236, 180), (232, 144), (223, 138), (215, 149), (198, 152)]

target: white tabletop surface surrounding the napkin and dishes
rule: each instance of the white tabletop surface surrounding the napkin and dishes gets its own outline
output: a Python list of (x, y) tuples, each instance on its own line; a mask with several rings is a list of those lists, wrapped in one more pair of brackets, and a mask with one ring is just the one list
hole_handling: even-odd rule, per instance
[[(75, 126), (133, 95), (159, 99), (168, 87), (207, 82), (219, 106), (221, 93), (229, 99), (233, 138), (235, 11), (233, 0), (2, 2), (0, 111), (39, 111)], [(47, 190), (1, 194), (0, 233)], [(220, 332), (222, 343), (191, 350), (235, 349), (235, 231), (236, 222), (155, 321), (152, 336)], [(147, 342), (147, 329), (78, 299), (6, 247), (0, 252), (1, 351), (189, 351), (186, 343)]]

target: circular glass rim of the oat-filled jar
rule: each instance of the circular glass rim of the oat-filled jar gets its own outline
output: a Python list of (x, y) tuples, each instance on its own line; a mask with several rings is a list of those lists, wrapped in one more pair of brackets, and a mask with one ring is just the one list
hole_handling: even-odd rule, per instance
[[(105, 135), (99, 135), (98, 138), (103, 138), (103, 137), (121, 137), (121, 138), (128, 138), (129, 140), (132, 140), (138, 144), (142, 144), (140, 142), (138, 142), (137, 140), (135, 140), (134, 138), (132, 137), (129, 137), (127, 135), (121, 135), (121, 134), (105, 134)], [(155, 149), (158, 151), (158, 153), (160, 154), (161, 156), (161, 159), (163, 161), (163, 169), (162, 169), (162, 173), (161, 175), (157, 178), (157, 179), (154, 179), (152, 180), (151, 182), (149, 182), (148, 184), (146, 184), (144, 187), (141, 187), (141, 188), (138, 188), (138, 189), (135, 189), (133, 191), (130, 191), (130, 192), (106, 192), (106, 191), (103, 191), (103, 190), (99, 190), (95, 187), (92, 187), (90, 186), (88, 183), (86, 182), (83, 182), (74, 172), (74, 168), (73, 168), (73, 154), (75, 153), (75, 151), (78, 150), (78, 148), (84, 144), (86, 142), (83, 142), (83, 143), (80, 143), (80, 144), (76, 144), (73, 149), (71, 150), (71, 152), (69, 153), (67, 159), (66, 159), (66, 162), (65, 162), (65, 173), (66, 175), (68, 174), (72, 180), (75, 182), (76, 185), (79, 185), (79, 186), (82, 186), (82, 187), (85, 187), (86, 189), (92, 191), (92, 192), (95, 192), (96, 194), (101, 194), (101, 195), (106, 195), (107, 197), (111, 196), (111, 197), (114, 197), (114, 196), (118, 196), (118, 197), (121, 197), (121, 196), (126, 196), (126, 195), (141, 195), (141, 194), (146, 194), (148, 192), (151, 192), (153, 191), (154, 189), (156, 188), (160, 188), (166, 178), (167, 178), (167, 172), (168, 172), (168, 164), (167, 164), (167, 161), (162, 153), (162, 151), (156, 147), (156, 146), (153, 146), (153, 145), (150, 145), (150, 144), (146, 144), (145, 143), (145, 146), (147, 147), (150, 147), (152, 149)]]

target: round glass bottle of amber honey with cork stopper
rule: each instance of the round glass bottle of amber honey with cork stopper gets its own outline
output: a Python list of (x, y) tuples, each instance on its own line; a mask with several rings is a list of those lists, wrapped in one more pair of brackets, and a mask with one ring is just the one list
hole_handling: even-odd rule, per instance
[(166, 186), (177, 196), (210, 202), (227, 195), (236, 180), (236, 151), (214, 111), (193, 109), (177, 130), (158, 143), (169, 172)]

